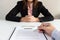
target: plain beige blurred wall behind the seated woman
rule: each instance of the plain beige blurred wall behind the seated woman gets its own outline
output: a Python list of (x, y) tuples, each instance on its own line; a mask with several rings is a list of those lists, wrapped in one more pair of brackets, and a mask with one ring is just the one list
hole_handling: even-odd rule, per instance
[[(17, 4), (17, 1), (21, 0), (0, 0), (0, 20), (5, 20), (5, 16), (12, 8), (14, 8), (14, 6)], [(49, 10), (55, 19), (60, 19), (60, 0), (39, 1), (43, 2), (43, 5)]]

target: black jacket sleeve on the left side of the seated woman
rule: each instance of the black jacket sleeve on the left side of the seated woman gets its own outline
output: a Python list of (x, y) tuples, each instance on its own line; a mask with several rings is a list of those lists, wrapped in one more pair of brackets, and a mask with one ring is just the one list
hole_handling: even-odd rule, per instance
[(19, 22), (21, 17), (16, 16), (19, 12), (20, 10), (18, 2), (17, 5), (6, 15), (6, 20)]

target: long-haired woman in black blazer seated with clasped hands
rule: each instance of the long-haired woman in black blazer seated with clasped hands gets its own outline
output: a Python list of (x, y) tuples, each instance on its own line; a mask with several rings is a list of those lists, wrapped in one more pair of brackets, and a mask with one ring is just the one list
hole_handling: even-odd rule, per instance
[[(21, 17), (16, 15), (20, 12)], [(44, 17), (38, 17), (42, 13)], [(6, 15), (6, 20), (16, 22), (52, 21), (54, 17), (38, 0), (22, 0)]]

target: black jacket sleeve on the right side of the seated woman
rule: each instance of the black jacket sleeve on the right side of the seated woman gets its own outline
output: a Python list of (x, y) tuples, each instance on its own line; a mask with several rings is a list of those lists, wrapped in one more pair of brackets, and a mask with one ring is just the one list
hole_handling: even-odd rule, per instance
[(45, 21), (52, 21), (54, 17), (51, 15), (51, 13), (43, 6), (41, 3), (41, 8), (40, 11), (44, 15), (44, 17), (40, 17), (40, 22), (45, 22)]

